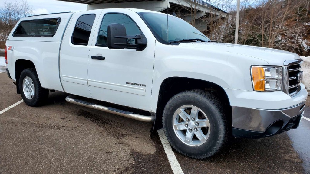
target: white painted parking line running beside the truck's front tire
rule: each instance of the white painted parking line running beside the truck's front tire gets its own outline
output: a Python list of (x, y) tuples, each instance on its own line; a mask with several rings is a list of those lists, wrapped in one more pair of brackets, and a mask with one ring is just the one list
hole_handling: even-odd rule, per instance
[(179, 161), (176, 159), (175, 154), (173, 153), (171, 146), (166, 138), (166, 135), (164, 133), (163, 129), (159, 129), (158, 131), (158, 135), (160, 138), (160, 141), (162, 141), (162, 146), (165, 149), (168, 161), (170, 163), (171, 169), (173, 171), (174, 174), (184, 174), (183, 170), (179, 164)]

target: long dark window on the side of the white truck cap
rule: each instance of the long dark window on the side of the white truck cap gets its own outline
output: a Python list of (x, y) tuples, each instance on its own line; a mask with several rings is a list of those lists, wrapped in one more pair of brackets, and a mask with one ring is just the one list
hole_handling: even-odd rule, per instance
[(60, 18), (24, 20), (17, 26), (13, 36), (53, 37), (59, 23)]

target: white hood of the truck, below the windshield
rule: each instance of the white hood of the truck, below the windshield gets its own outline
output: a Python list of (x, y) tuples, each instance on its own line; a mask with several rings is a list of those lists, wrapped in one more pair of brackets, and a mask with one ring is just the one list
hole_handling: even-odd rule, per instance
[(283, 66), (285, 60), (300, 59), (299, 55), (295, 53), (258, 46), (245, 46), (214, 42), (189, 42), (180, 43), (178, 46), (193, 47), (202, 49), (206, 52), (214, 52), (215, 50), (218, 50), (220, 55), (223, 54), (223, 56), (226, 57), (229, 54), (240, 54), (264, 60), (268, 63), (268, 65), (274, 66)]

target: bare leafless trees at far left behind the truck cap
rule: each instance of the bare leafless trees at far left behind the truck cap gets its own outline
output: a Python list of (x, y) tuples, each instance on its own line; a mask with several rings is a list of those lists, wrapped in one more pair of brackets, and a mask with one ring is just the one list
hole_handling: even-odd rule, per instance
[(4, 2), (0, 7), (0, 41), (6, 41), (20, 18), (33, 14), (33, 7), (26, 0)]

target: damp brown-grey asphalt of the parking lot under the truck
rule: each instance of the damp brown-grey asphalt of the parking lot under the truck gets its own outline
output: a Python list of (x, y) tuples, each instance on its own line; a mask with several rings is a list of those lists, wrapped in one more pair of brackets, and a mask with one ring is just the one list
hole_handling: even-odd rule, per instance
[[(2, 110), (21, 97), (6, 73), (0, 80)], [(74, 105), (67, 95), (50, 93), (45, 106), (22, 102), (0, 115), (0, 173), (173, 173), (152, 123)], [(185, 174), (309, 173), (309, 128), (303, 119), (288, 134), (232, 139), (205, 160), (173, 151)]]

